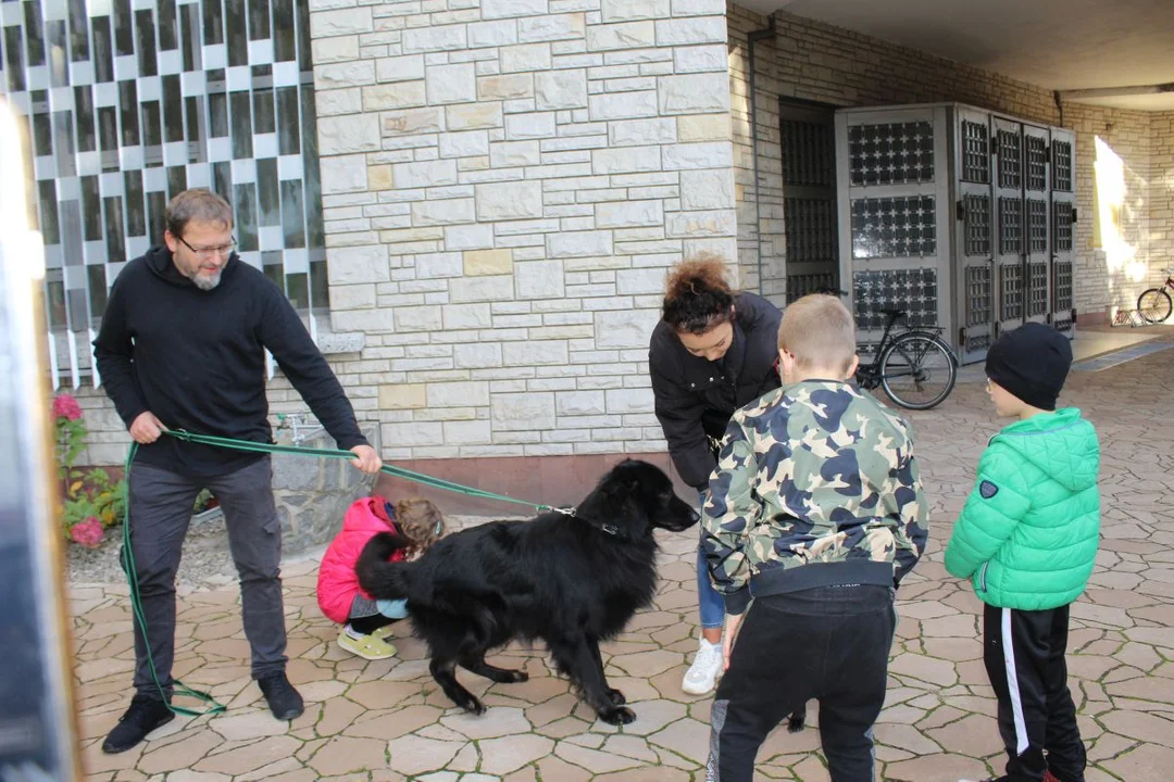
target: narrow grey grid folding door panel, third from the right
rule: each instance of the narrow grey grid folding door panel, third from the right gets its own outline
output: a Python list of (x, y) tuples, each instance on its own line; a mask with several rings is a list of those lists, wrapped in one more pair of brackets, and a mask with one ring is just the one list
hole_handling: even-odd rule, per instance
[(1024, 127), (996, 117), (994, 130), (994, 290), (996, 328), (1017, 328), (1026, 313), (1026, 231)]

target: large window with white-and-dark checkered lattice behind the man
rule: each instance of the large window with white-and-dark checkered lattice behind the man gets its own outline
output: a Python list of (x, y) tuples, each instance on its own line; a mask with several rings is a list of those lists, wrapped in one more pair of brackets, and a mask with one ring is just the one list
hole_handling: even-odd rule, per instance
[(309, 4), (0, 0), (0, 93), (33, 140), (55, 387), (100, 382), (90, 342), (109, 287), (162, 243), (187, 188), (228, 198), (241, 259), (317, 333), (329, 288)]

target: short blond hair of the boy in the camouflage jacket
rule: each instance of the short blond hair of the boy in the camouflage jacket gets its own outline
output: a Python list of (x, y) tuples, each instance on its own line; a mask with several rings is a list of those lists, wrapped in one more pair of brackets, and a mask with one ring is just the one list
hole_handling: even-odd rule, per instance
[(801, 369), (826, 367), (846, 373), (856, 356), (852, 313), (834, 295), (805, 295), (783, 310), (778, 349), (794, 355)]

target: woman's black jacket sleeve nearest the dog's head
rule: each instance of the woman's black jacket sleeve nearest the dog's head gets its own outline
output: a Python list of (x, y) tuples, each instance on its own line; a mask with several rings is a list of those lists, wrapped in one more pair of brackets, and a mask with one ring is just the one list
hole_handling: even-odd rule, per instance
[(706, 406), (696, 394), (669, 376), (666, 372), (669, 361), (655, 345), (649, 351), (648, 368), (653, 381), (656, 420), (664, 431), (668, 453), (681, 480), (701, 490), (709, 485), (709, 475), (717, 465), (701, 423)]

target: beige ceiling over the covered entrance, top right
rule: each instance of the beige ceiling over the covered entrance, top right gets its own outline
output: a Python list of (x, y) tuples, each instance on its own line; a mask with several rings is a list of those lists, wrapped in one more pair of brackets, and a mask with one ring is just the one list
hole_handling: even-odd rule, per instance
[[(1174, 82), (1174, 0), (735, 0), (1058, 90)], [(1174, 93), (1098, 97), (1174, 109)]]

